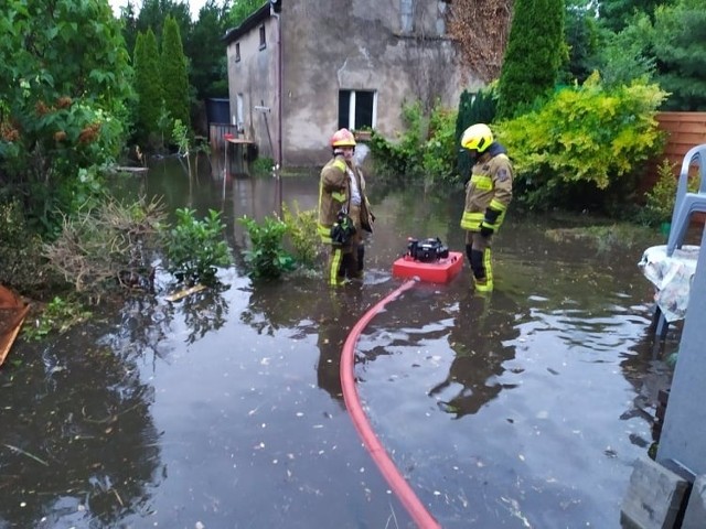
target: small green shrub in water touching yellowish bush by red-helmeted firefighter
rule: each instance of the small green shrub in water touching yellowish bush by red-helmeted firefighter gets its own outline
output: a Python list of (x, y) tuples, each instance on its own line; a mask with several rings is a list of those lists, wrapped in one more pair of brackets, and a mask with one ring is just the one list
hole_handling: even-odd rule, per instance
[(293, 268), (293, 259), (282, 246), (287, 224), (274, 217), (265, 217), (261, 224), (247, 216), (238, 222), (245, 226), (250, 239), (250, 249), (244, 251), (250, 278), (278, 279)]

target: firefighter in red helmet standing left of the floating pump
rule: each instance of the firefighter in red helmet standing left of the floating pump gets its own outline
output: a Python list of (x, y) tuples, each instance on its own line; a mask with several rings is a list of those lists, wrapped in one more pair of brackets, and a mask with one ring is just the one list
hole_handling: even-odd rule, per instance
[(365, 196), (365, 179), (353, 160), (355, 137), (338, 130), (330, 140), (333, 158), (319, 181), (319, 236), (331, 247), (327, 280), (331, 285), (362, 279), (363, 231), (372, 233), (374, 216)]

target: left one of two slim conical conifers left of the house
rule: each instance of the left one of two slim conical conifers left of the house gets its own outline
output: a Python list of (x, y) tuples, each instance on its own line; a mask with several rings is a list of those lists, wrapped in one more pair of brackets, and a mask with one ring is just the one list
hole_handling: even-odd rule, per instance
[(138, 94), (136, 140), (153, 148), (160, 130), (159, 119), (164, 107), (164, 96), (157, 37), (151, 29), (145, 34), (138, 34), (133, 55), (135, 87)]

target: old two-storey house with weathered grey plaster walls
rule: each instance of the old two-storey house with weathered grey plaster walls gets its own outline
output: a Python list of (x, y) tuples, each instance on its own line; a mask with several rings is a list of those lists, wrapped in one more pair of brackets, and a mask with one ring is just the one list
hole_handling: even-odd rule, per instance
[(447, 8), (442, 0), (265, 3), (224, 36), (231, 125), (260, 155), (307, 166), (330, 158), (327, 142), (341, 127), (394, 139), (405, 101), (456, 108), (463, 88), (481, 82), (462, 82)]

